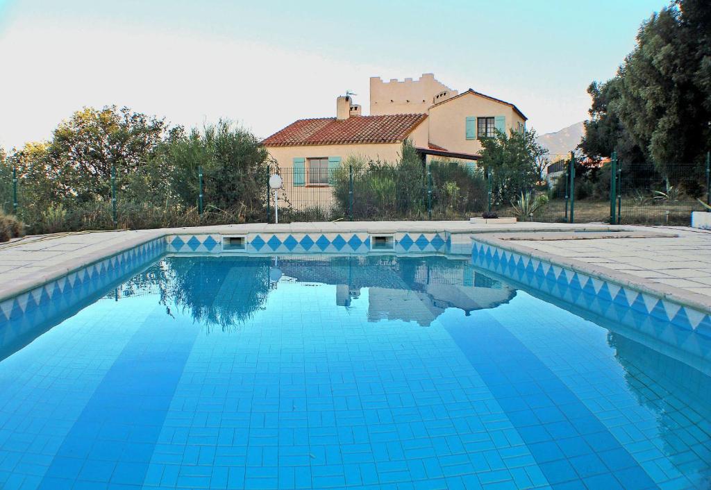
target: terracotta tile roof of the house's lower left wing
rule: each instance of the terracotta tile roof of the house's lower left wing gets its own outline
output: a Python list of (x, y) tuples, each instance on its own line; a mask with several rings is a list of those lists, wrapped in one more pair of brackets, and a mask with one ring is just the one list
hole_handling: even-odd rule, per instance
[(299, 119), (264, 139), (265, 147), (301, 147), (314, 144), (397, 143), (427, 118), (427, 114), (353, 116)]

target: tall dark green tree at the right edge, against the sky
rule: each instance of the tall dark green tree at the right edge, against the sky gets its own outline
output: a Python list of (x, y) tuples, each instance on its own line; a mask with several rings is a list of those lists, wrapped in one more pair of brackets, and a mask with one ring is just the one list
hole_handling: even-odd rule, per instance
[(711, 137), (711, 14), (705, 1), (678, 0), (642, 23), (616, 77), (593, 82), (591, 119), (580, 147), (594, 158), (700, 163)]

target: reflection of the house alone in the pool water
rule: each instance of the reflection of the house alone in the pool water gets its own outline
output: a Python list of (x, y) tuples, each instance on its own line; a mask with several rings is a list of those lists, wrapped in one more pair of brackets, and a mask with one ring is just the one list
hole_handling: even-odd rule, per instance
[(284, 275), (299, 282), (336, 284), (336, 304), (350, 307), (368, 288), (368, 320), (432, 324), (447, 308), (469, 314), (507, 303), (515, 289), (474, 270), (468, 260), (445, 257), (338, 257), (282, 260)]

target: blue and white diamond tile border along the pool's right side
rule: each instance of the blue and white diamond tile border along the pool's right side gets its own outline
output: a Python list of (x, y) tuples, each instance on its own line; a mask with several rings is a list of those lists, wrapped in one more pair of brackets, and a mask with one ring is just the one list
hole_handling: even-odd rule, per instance
[[(538, 289), (630, 326), (687, 351), (697, 351), (695, 336), (711, 338), (711, 314), (688, 305), (656, 297), (612, 280), (553, 265), (488, 243), (472, 241), (471, 260), (482, 269)], [(705, 343), (705, 342), (704, 342)], [(708, 352), (694, 352), (709, 356)]]

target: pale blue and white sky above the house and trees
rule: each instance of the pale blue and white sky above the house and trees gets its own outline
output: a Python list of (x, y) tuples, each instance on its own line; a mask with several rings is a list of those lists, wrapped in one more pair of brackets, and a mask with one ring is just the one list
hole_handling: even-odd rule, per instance
[(50, 139), (85, 106), (267, 137), (332, 117), (371, 76), (434, 73), (515, 104), (539, 134), (587, 118), (667, 0), (0, 0), (0, 146)]

